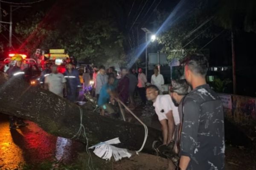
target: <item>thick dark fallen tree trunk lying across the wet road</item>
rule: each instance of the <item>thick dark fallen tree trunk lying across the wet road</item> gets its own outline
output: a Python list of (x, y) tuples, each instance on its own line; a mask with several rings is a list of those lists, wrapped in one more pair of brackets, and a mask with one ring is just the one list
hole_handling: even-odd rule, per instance
[[(119, 137), (121, 144), (129, 150), (138, 150), (144, 140), (144, 127), (133, 123), (111, 119), (93, 113), (93, 108), (82, 107), (82, 124), (89, 144)], [(30, 86), (19, 79), (8, 79), (0, 72), (0, 113), (17, 116), (37, 123), (46, 132), (55, 136), (72, 138), (80, 128), (79, 106), (42, 88)], [(144, 153), (154, 153), (152, 144), (162, 134), (148, 127), (148, 139)], [(86, 143), (85, 136), (76, 136)]]

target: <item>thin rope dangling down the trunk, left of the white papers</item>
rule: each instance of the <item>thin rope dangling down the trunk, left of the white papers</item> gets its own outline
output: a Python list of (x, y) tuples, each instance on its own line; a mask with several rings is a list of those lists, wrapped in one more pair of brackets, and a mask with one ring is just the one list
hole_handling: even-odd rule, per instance
[(82, 130), (84, 130), (84, 136), (85, 136), (85, 139), (86, 139), (86, 152), (89, 156), (89, 158), (88, 158), (88, 167), (89, 167), (90, 170), (95, 170), (94, 167), (93, 167), (93, 158), (92, 158), (92, 156), (89, 152), (89, 149), (88, 149), (89, 141), (88, 141), (87, 135), (85, 133), (85, 127), (84, 127), (83, 122), (82, 122), (83, 110), (79, 106), (78, 106), (78, 108), (79, 108), (79, 111), (80, 111), (80, 127), (79, 127), (79, 130), (77, 131), (77, 133), (70, 139), (74, 139), (75, 137), (76, 137), (76, 139), (78, 139), (82, 134)]

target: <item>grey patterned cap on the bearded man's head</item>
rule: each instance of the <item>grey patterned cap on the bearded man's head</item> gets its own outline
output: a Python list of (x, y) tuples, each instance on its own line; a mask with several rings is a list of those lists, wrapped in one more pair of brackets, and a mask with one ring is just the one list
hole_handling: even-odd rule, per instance
[(185, 95), (188, 94), (189, 85), (187, 84), (185, 79), (177, 79), (172, 80), (172, 86), (170, 87), (170, 91), (173, 93)]

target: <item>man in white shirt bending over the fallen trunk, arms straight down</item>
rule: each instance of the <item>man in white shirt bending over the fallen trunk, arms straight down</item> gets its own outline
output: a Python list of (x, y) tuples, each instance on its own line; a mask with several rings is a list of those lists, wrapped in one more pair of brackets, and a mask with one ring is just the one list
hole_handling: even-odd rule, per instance
[[(168, 145), (174, 140), (174, 131), (180, 124), (178, 108), (172, 102), (169, 94), (159, 95), (159, 89), (155, 85), (147, 87), (146, 96), (148, 100), (154, 102), (153, 106), (162, 126), (163, 144)], [(175, 170), (175, 165), (172, 161), (168, 161), (168, 163), (168, 170)]]

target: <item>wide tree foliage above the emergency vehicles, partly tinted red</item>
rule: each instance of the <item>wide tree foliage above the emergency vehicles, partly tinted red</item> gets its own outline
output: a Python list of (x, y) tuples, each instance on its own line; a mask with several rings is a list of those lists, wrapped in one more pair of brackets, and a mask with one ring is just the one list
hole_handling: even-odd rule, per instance
[(36, 48), (64, 48), (79, 61), (85, 60), (94, 64), (108, 64), (113, 60), (120, 63), (125, 61), (124, 37), (111, 17), (75, 21), (73, 17), (64, 15), (61, 20), (50, 25), (45, 22), (45, 18), (39, 12), (17, 23), (15, 31), (26, 40), (24, 48), (28, 48), (30, 54)]

